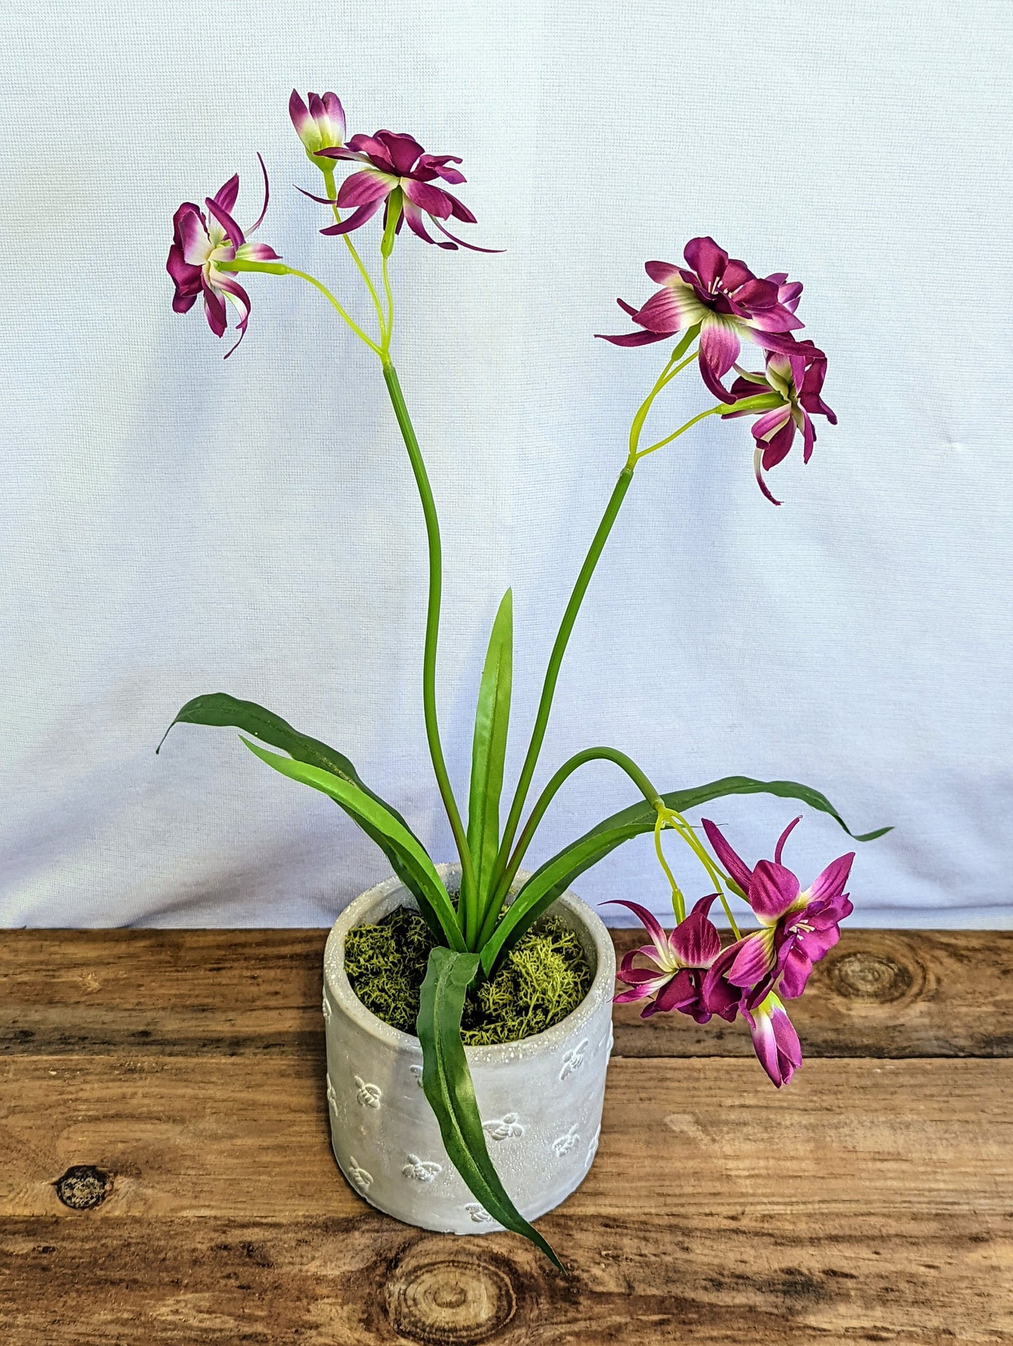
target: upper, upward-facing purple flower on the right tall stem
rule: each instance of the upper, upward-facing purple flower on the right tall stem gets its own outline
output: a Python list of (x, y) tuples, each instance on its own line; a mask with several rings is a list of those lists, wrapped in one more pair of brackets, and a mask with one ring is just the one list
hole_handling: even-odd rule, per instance
[(802, 285), (788, 283), (784, 272), (755, 276), (745, 262), (729, 257), (713, 238), (690, 238), (683, 257), (690, 269), (667, 261), (644, 265), (662, 289), (642, 308), (619, 300), (619, 307), (643, 331), (597, 335), (615, 346), (646, 346), (700, 326), (700, 371), (712, 393), (728, 402), (732, 394), (720, 381), (735, 365), (743, 338), (764, 350), (790, 351), (794, 347), (791, 332), (804, 326), (795, 318)]

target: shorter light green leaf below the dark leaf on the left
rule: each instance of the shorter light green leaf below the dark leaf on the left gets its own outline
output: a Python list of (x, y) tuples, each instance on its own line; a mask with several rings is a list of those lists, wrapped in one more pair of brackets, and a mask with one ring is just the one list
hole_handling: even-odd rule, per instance
[(464, 949), (464, 940), (457, 926), (457, 913), (453, 910), (453, 903), (449, 899), (443, 879), (436, 872), (432, 860), (425, 853), (418, 839), (408, 830), (404, 822), (394, 817), (386, 805), (377, 802), (371, 794), (359, 789), (358, 785), (352, 785), (332, 771), (307, 766), (304, 762), (293, 762), (292, 758), (278, 756), (277, 752), (268, 752), (266, 748), (257, 747), (248, 738), (239, 736), (250, 752), (258, 756), (261, 762), (266, 762), (268, 766), (274, 767), (276, 771), (289, 777), (292, 781), (301, 781), (303, 785), (312, 786), (313, 790), (320, 790), (322, 794), (328, 794), (361, 826), (382, 836), (397, 855), (400, 864), (412, 876), (414, 884), (412, 891), (418, 899), (422, 914), (425, 915), (428, 909), (429, 915), (439, 923), (437, 929), (441, 931), (441, 937), (447, 940), (452, 949)]

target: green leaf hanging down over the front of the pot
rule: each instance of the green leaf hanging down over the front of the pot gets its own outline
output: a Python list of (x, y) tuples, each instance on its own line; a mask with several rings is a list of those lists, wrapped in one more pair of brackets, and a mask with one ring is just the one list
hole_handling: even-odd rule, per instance
[(506, 1229), (530, 1238), (566, 1275), (546, 1240), (514, 1206), (488, 1158), (460, 1035), (464, 996), (478, 970), (476, 953), (433, 949), (429, 954), (417, 1023), (422, 1090), (436, 1113), (447, 1154), (475, 1199)]

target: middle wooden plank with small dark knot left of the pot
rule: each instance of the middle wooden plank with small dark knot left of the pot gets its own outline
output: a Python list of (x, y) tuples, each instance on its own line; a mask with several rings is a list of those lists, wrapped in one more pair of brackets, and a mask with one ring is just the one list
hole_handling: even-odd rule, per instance
[[(112, 1176), (90, 1218), (328, 1218), (366, 1207), (330, 1152), (323, 1071), (278, 1055), (11, 1057), (0, 1215), (79, 1218), (73, 1164)], [(577, 1217), (1013, 1210), (1013, 1062), (810, 1061), (775, 1092), (756, 1062), (620, 1058)]]

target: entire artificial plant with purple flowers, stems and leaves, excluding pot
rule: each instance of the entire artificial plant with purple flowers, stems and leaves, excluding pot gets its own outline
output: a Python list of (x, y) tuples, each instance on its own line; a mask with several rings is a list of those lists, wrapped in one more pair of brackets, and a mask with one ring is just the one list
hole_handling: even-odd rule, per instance
[[(597, 746), (584, 748), (561, 763), (535, 802), (529, 802), (566, 646), (640, 462), (671, 446), (708, 417), (717, 416), (724, 421), (752, 416), (756, 481), (764, 497), (778, 505), (764, 472), (784, 460), (796, 436), (802, 440), (803, 460), (810, 460), (817, 437), (814, 417), (835, 423), (822, 396), (827, 359), (811, 339), (799, 336), (804, 326), (798, 315), (802, 285), (790, 280), (787, 272), (760, 275), (704, 234), (690, 238), (683, 248), (685, 265), (646, 262), (648, 277), (659, 288), (640, 307), (619, 300), (620, 308), (632, 319), (634, 330), (599, 335), (620, 347), (671, 345), (661, 373), (634, 413), (626, 458), (565, 607), (504, 820), (500, 794), (511, 708), (511, 592), (507, 591), (500, 602), (479, 686), (465, 825), (444, 759), (437, 720), (436, 654), (443, 591), (439, 516), (391, 357), (396, 310), (390, 261), (405, 223), (421, 242), (448, 252), (467, 248), (487, 253), (495, 249), (465, 242), (447, 227), (448, 221), (455, 221), (457, 226), (476, 223), (470, 207), (456, 194), (456, 188), (465, 182), (457, 155), (429, 153), (414, 136), (387, 129), (346, 139), (344, 108), (334, 93), (311, 93), (303, 98), (293, 90), (289, 116), (305, 157), (323, 179), (323, 194), (299, 190), (326, 207), (328, 215), (320, 233), (342, 244), (362, 283), (361, 293), (366, 311), (371, 308), (371, 316), (369, 320), (355, 318), (319, 277), (291, 267), (269, 245), (248, 241), (268, 209), (266, 170), (264, 209), (246, 230), (241, 229), (234, 215), (238, 176), (230, 178), (214, 197), (206, 198), (203, 210), (192, 202), (179, 207), (167, 261), (175, 284), (172, 307), (187, 312), (200, 297), (207, 323), (217, 336), (225, 334), (231, 308), (242, 341), (252, 306), (237, 275), (293, 277), (311, 285), (379, 359), (426, 528), (429, 588), (422, 711), (433, 775), (460, 857), (459, 900), (451, 902), (430, 856), (408, 821), (365, 785), (342, 752), (300, 734), (264, 707), (226, 693), (195, 697), (179, 711), (174, 724), (235, 725), (261, 743), (280, 748), (287, 755), (268, 751), (243, 738), (246, 746), (276, 771), (335, 800), (383, 851), (414, 896), (436, 941), (421, 987), (417, 1028), (424, 1058), (422, 1086), (440, 1123), (447, 1152), (482, 1209), (558, 1261), (541, 1234), (517, 1211), (491, 1163), (460, 1040), (465, 992), (491, 981), (517, 941), (576, 876), (632, 836), (654, 832), (658, 861), (671, 886), (675, 927), (665, 934), (644, 907), (623, 903), (643, 921), (651, 944), (623, 960), (619, 980), (624, 989), (616, 1000), (646, 1001), (644, 1016), (679, 1011), (698, 1023), (706, 1023), (713, 1015), (730, 1022), (741, 1014), (761, 1065), (774, 1084), (780, 1086), (802, 1061), (798, 1035), (784, 1001), (802, 993), (813, 964), (834, 945), (839, 922), (852, 910), (843, 892), (852, 853), (834, 860), (809, 888), (802, 890), (795, 875), (782, 864), (784, 840), (794, 824), (778, 841), (774, 859), (763, 859), (749, 868), (713, 822), (702, 822), (710, 845), (708, 851), (697, 829), (683, 816), (686, 810), (713, 800), (767, 793), (804, 801), (849, 830), (830, 801), (810, 786), (791, 781), (724, 777), (708, 785), (662, 794), (628, 754)], [(343, 166), (351, 166), (354, 171), (339, 186), (335, 174)], [(378, 226), (370, 232), (370, 222), (377, 215), (381, 215)], [(367, 265), (357, 246), (357, 242), (362, 245), (362, 240), (370, 238), (374, 245), (378, 244), (373, 265)], [(374, 334), (367, 328), (373, 328)], [(763, 354), (761, 370), (739, 363), (743, 343)], [(233, 350), (235, 346), (229, 354)], [(662, 394), (690, 366), (698, 370), (702, 389), (714, 400), (713, 404), (696, 411), (675, 429), (644, 443), (647, 423), (661, 406)], [(700, 390), (701, 384), (696, 388)], [(608, 762), (623, 771), (639, 794), (638, 802), (617, 814), (595, 820), (591, 830), (550, 856), (522, 882), (519, 867), (545, 813), (569, 777), (589, 762)], [(885, 830), (881, 828), (860, 835), (856, 840), (872, 840)], [(710, 891), (696, 902), (689, 914), (663, 853), (662, 836), (666, 832), (675, 833), (708, 878)], [(757, 929), (740, 933), (730, 899), (745, 903)], [(732, 944), (725, 949), (710, 919), (716, 900), (724, 907), (733, 934)]]

